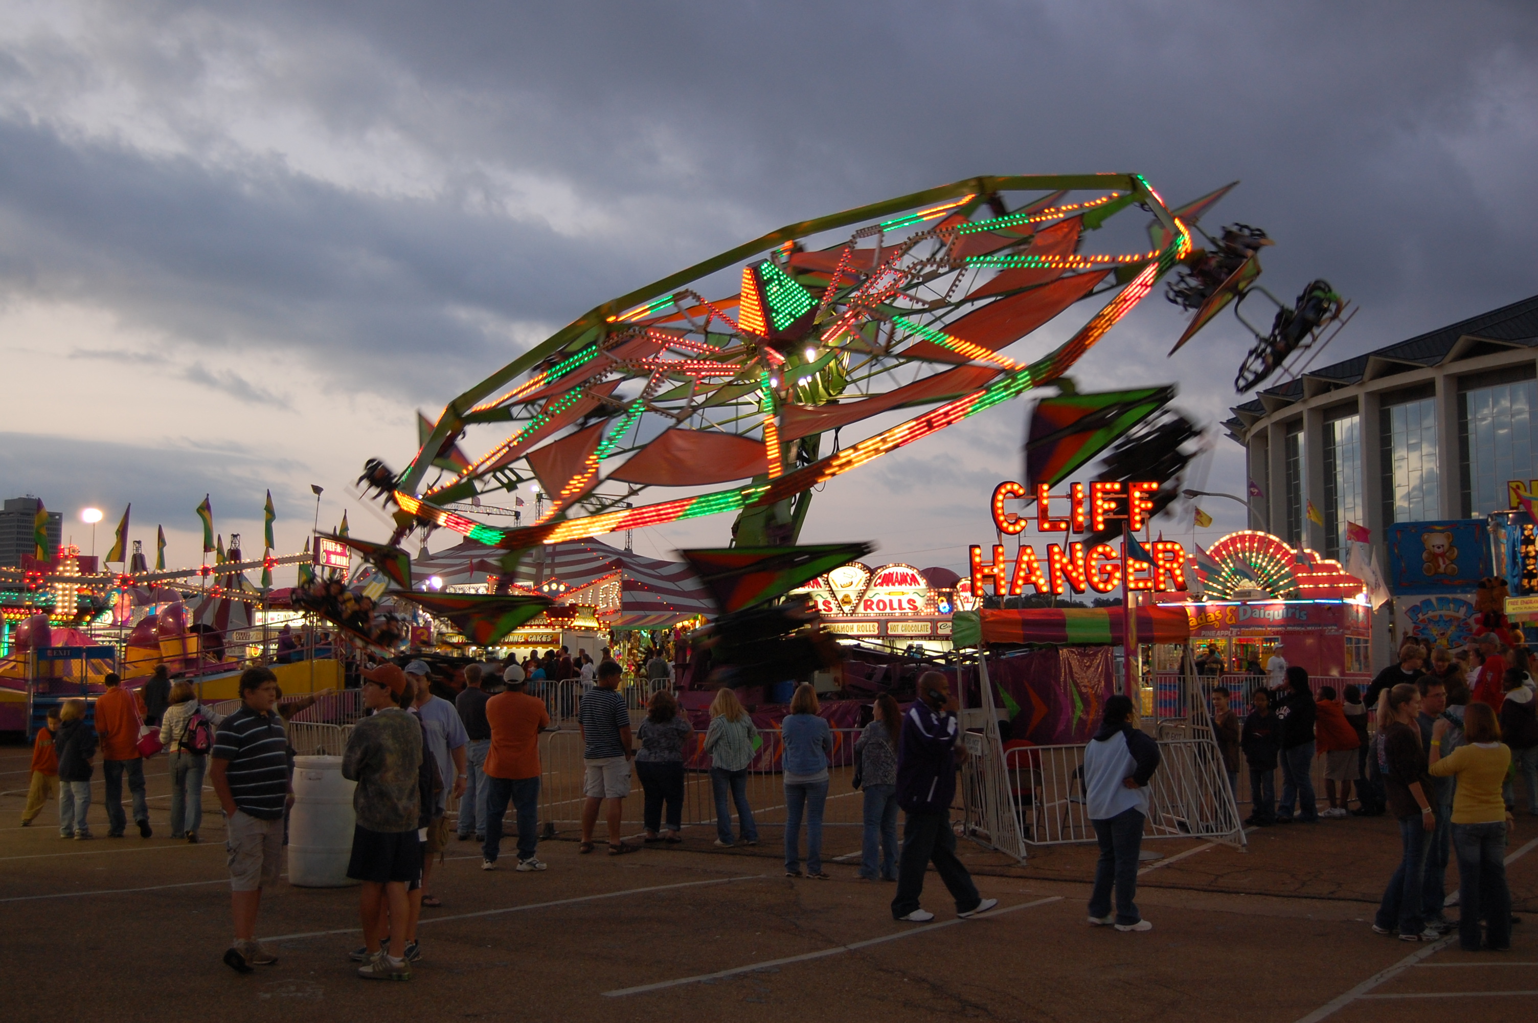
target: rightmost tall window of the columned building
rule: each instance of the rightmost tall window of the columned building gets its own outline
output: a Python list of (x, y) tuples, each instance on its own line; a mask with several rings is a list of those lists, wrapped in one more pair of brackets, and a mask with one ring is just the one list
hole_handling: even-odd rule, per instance
[[(1530, 369), (1529, 369), (1530, 372)], [(1507, 374), (1516, 377), (1518, 374)], [(1458, 394), (1463, 448), (1463, 514), (1484, 517), (1507, 508), (1506, 485), (1532, 480), (1538, 380), (1506, 380)]]

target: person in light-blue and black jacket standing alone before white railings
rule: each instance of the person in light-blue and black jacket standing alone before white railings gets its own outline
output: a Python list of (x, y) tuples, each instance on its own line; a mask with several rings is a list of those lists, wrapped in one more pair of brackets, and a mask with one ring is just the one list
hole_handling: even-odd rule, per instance
[[(1149, 812), (1147, 785), (1158, 771), (1158, 743), (1132, 725), (1130, 697), (1106, 700), (1100, 731), (1084, 748), (1084, 808), (1100, 843), (1095, 888), (1089, 895), (1089, 923), (1117, 931), (1152, 931), (1134, 901), (1138, 889), (1138, 852)], [(1117, 912), (1110, 912), (1110, 892)]]

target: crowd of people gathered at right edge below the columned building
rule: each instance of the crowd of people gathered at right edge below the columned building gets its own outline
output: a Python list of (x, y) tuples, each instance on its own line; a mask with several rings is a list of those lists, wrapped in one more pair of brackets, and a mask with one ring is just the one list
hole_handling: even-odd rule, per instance
[[(1401, 857), (1373, 931), (1432, 941), (1456, 928), (1467, 951), (1509, 948), (1504, 849), (1520, 809), (1518, 778), (1527, 814), (1538, 817), (1538, 683), (1526, 646), (1495, 634), (1458, 651), (1409, 638), (1366, 694), (1353, 685), (1315, 691), (1307, 672), (1290, 666), (1284, 686), (1250, 692), (1243, 725), (1226, 686), (1210, 694), (1235, 800), (1241, 758), (1249, 772), (1246, 825), (1392, 814)], [(1324, 768), (1324, 809), (1312, 783), (1315, 760)], [(1456, 923), (1446, 917), (1450, 860), (1460, 878)]]

